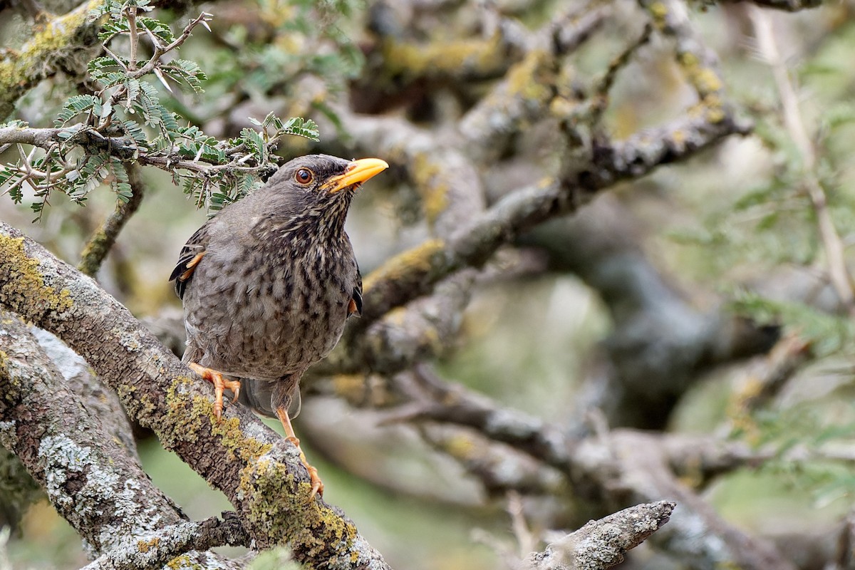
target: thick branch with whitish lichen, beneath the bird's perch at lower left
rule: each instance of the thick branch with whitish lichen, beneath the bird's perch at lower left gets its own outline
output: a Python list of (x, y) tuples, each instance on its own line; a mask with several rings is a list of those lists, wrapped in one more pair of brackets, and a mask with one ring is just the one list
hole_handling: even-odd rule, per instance
[(180, 523), (134, 456), (80, 406), (27, 325), (5, 310), (0, 323), (0, 440), (92, 551)]

